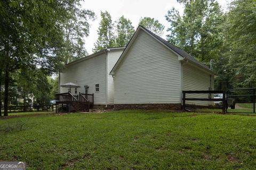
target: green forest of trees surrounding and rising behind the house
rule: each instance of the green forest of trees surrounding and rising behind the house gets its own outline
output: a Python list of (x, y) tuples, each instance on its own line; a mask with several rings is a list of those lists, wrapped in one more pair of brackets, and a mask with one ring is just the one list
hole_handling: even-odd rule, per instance
[[(234, 0), (223, 12), (214, 0), (177, 0), (181, 15), (171, 8), (169, 25), (149, 17), (138, 25), (185, 50), (218, 75), (215, 89), (256, 87), (256, 1)], [(96, 16), (79, 0), (0, 2), (0, 107), (17, 105), (17, 98), (47, 104), (58, 93), (59, 71), (65, 64), (87, 55), (85, 37), (90, 24), (100, 17), (93, 52), (106, 47), (124, 47), (135, 28), (107, 11)], [(167, 27), (168, 35), (163, 35)], [(2, 115), (2, 113), (0, 113)]]

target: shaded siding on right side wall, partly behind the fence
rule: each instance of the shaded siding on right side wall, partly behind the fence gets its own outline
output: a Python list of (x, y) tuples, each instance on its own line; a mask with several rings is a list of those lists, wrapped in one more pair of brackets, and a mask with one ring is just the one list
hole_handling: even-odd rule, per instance
[[(183, 90), (214, 90), (214, 80), (210, 74), (190, 63), (183, 65)], [(186, 98), (209, 98), (208, 94), (187, 94)], [(213, 101), (186, 101), (192, 105), (213, 105)]]

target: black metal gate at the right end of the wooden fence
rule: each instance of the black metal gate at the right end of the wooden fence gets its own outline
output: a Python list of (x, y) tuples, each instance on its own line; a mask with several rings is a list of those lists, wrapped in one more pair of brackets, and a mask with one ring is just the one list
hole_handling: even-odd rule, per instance
[(255, 113), (256, 88), (227, 90), (227, 113)]

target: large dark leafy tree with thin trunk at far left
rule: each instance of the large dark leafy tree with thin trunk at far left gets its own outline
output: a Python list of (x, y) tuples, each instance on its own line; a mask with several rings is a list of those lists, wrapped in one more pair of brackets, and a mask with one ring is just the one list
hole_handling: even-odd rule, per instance
[(10, 73), (42, 67), (51, 73), (61, 61), (61, 23), (68, 6), (79, 1), (1, 1), (0, 50), (4, 68), (4, 116), (7, 116)]

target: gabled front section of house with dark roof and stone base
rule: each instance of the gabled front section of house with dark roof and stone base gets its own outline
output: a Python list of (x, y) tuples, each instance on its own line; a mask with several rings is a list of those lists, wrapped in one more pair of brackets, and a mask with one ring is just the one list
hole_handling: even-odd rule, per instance
[[(116, 109), (180, 109), (182, 90), (214, 89), (214, 73), (208, 67), (141, 26), (110, 74), (114, 77)], [(213, 102), (190, 101), (188, 104), (211, 105)]]

